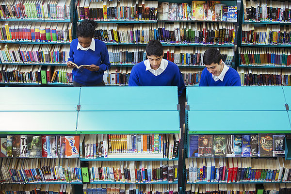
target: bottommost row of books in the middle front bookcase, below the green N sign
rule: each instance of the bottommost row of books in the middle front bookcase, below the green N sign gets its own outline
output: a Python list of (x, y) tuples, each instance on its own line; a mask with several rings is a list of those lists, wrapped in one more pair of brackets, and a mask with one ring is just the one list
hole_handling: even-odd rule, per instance
[(178, 184), (83, 184), (83, 194), (178, 194)]

